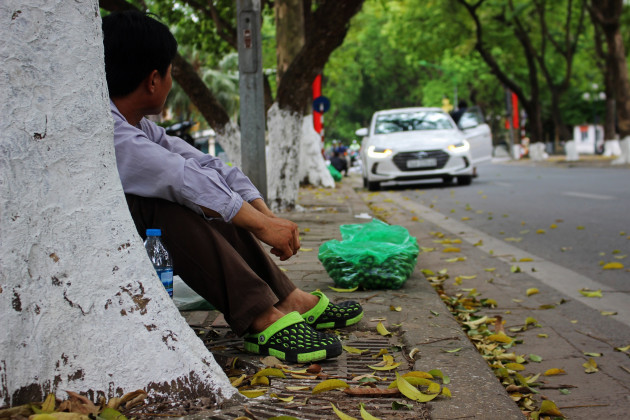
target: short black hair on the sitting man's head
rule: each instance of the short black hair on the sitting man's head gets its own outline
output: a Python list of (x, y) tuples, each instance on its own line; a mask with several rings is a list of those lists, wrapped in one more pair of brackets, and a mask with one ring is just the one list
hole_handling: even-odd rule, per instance
[(111, 97), (130, 94), (153, 70), (165, 76), (177, 53), (177, 41), (168, 27), (135, 10), (103, 18), (103, 44)]

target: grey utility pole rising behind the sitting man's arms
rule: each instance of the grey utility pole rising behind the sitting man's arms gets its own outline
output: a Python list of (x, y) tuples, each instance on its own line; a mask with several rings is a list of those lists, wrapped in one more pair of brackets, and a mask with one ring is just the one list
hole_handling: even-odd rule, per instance
[(237, 0), (242, 169), (267, 198), (260, 0)]

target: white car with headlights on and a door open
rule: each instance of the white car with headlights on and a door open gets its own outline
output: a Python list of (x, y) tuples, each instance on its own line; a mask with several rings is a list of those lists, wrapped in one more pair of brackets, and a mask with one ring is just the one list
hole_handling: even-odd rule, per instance
[(370, 191), (383, 182), (401, 183), (457, 178), (469, 185), (476, 166), (492, 159), (490, 127), (476, 107), (468, 108), (459, 127), (441, 108), (400, 108), (378, 111), (363, 137), (361, 163), (363, 184)]

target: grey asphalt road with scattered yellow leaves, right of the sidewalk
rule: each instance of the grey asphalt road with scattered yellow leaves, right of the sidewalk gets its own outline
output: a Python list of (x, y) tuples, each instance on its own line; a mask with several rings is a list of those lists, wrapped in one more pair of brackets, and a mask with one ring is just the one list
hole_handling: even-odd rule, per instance
[[(630, 344), (629, 172), (492, 163), (470, 186), (384, 185), (361, 195), (376, 215), (418, 238), (420, 269), (448, 272), (449, 296), (496, 300), (485, 314), (503, 317), (514, 331), (526, 317), (537, 320), (540, 329), (516, 334), (523, 342), (514, 352), (542, 356), (540, 366), (527, 365), (532, 375), (566, 372), (543, 382), (575, 389), (542, 390), (565, 415), (621, 418), (630, 407), (628, 357), (615, 351)], [(444, 253), (445, 238), (461, 240), (461, 252)], [(623, 268), (604, 269), (609, 263)], [(597, 375), (585, 371), (588, 355), (596, 355)]]

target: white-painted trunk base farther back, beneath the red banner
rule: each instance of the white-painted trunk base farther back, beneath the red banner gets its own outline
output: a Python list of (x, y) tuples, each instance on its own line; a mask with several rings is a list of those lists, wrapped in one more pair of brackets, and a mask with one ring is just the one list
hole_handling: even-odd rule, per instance
[(313, 128), (313, 114), (304, 116), (302, 120), (302, 139), (300, 148), (300, 165), (298, 178), (316, 187), (335, 188), (326, 161), (322, 156), (321, 137)]

